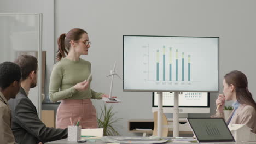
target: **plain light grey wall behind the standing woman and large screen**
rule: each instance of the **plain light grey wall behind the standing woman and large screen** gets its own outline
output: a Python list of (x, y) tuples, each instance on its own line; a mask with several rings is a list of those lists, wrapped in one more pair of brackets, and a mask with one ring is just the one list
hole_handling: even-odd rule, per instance
[[(54, 63), (53, 45), (56, 52), (57, 37), (72, 28), (83, 28), (89, 33), (92, 45), (89, 55), (83, 58), (92, 63), (92, 88), (104, 93), (109, 93), (110, 85), (110, 79), (104, 76), (109, 74), (115, 61), (117, 73), (120, 76), (123, 74), (124, 34), (212, 36), (220, 37), (220, 91), (224, 74), (235, 69), (241, 70), (247, 75), (249, 89), (256, 99), (255, 5), (254, 0), (4, 0), (0, 2), (0, 12), (38, 13), (43, 9), (43, 24), (47, 26), (43, 27), (43, 44), (47, 43), (43, 47), (49, 51), (46, 84), (49, 83), (50, 70)], [(123, 101), (121, 104), (114, 104), (114, 110), (118, 112), (117, 117), (123, 118), (119, 123), (121, 135), (132, 135), (127, 132), (129, 119), (153, 118), (152, 93), (123, 92), (121, 80), (115, 79), (113, 94)], [(216, 109), (214, 101), (217, 95), (218, 93), (211, 93), (211, 114)], [(97, 112), (100, 112), (102, 101), (95, 100), (94, 104)], [(211, 114), (189, 116), (207, 117)]]

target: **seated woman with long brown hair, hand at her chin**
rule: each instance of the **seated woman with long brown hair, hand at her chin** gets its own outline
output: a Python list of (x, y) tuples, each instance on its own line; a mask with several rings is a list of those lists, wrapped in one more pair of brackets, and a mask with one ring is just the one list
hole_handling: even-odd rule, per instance
[(216, 100), (217, 113), (212, 117), (224, 117), (223, 107), (225, 101), (232, 100), (234, 103), (227, 124), (246, 124), (256, 133), (256, 103), (248, 89), (247, 77), (241, 71), (231, 71), (223, 79), (223, 94), (219, 94)]

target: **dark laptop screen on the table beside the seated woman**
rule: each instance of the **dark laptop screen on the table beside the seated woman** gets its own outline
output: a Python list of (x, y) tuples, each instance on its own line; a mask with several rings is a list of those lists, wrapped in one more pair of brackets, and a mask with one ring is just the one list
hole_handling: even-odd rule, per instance
[(235, 143), (223, 118), (187, 118), (199, 143)]

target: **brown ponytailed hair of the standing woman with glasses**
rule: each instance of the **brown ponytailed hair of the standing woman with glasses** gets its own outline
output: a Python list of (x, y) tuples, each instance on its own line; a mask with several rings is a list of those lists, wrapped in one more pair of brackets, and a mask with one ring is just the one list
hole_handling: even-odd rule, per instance
[[(80, 38), (82, 38), (82, 35), (86, 33), (84, 29), (80, 28), (73, 28), (70, 31), (68, 31), (67, 34), (63, 33), (58, 38), (58, 51), (57, 51), (57, 61), (60, 61), (62, 57), (66, 57), (68, 55), (68, 51), (70, 49), (70, 41), (78, 41)], [(65, 55), (66, 53), (66, 55)]]

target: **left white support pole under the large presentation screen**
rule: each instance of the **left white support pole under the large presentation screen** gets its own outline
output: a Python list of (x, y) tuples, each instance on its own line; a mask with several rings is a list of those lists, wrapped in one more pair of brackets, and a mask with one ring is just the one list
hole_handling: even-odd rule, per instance
[(162, 137), (162, 92), (158, 92), (158, 137)]

